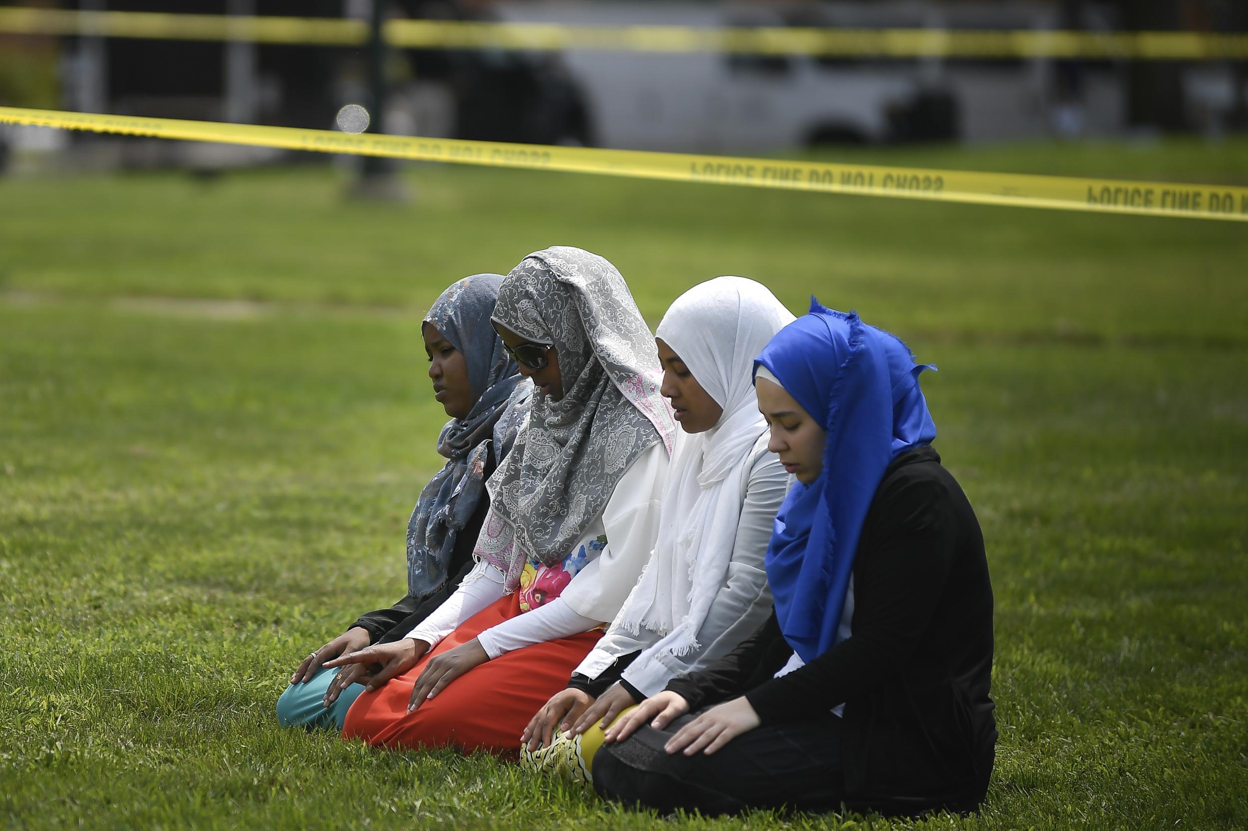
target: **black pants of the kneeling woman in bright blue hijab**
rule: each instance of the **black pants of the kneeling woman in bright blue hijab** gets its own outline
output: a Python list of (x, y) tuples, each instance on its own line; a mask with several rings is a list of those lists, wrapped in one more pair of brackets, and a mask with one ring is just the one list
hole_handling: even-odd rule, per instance
[(841, 720), (763, 725), (706, 756), (669, 755), (663, 745), (694, 715), (664, 730), (649, 725), (594, 755), (594, 790), (628, 806), (704, 815), (749, 809), (837, 810), (844, 799)]

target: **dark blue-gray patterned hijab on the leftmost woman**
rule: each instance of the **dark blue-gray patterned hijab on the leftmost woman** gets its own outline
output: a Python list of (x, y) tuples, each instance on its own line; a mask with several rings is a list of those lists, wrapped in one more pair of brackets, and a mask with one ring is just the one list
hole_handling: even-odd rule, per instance
[(407, 590), (422, 596), (441, 588), (456, 539), (485, 493), (489, 455), (500, 462), (510, 450), (527, 412), (530, 383), (490, 326), (502, 275), (474, 275), (442, 292), (423, 323), (429, 323), (464, 356), (468, 387), (477, 403), (468, 415), (447, 422), (438, 453), (447, 463), (421, 492), (407, 523)]

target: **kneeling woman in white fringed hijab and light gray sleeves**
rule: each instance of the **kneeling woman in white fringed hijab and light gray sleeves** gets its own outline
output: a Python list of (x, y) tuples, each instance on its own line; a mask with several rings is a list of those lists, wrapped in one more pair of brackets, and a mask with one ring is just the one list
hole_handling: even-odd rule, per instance
[(659, 323), (661, 392), (681, 425), (659, 538), (607, 635), (529, 722), (525, 765), (588, 779), (603, 727), (766, 619), (763, 559), (790, 477), (768, 452), (753, 371), (792, 319), (765, 286), (718, 277), (681, 294)]

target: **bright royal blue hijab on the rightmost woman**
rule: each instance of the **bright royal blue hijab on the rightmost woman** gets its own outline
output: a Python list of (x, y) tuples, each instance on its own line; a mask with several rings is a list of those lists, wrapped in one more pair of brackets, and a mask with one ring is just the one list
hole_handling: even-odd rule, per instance
[[(766, 570), (785, 640), (804, 661), (836, 643), (867, 508), (892, 460), (931, 444), (936, 424), (910, 349), (856, 313), (825, 308), (780, 329), (754, 362), (827, 430), (824, 469), (780, 505)], [(832, 369), (835, 367), (835, 369)]]

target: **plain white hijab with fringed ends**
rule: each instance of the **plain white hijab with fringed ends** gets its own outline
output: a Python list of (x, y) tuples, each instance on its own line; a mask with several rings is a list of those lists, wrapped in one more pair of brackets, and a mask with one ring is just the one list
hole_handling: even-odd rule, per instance
[(766, 429), (754, 396), (754, 358), (792, 321), (761, 283), (716, 277), (678, 297), (659, 323), (656, 337), (724, 413), (705, 433), (676, 437), (658, 543), (612, 624), (661, 636), (636, 659), (639, 666), (664, 651), (699, 648), (698, 631), (733, 558), (750, 450)]

